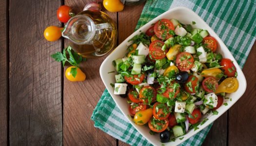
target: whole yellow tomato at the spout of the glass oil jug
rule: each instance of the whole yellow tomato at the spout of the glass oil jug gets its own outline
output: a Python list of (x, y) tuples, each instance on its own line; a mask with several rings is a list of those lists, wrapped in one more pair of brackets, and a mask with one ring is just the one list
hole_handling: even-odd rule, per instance
[(44, 30), (44, 37), (48, 41), (56, 41), (61, 37), (61, 30), (63, 28), (57, 26), (49, 26)]

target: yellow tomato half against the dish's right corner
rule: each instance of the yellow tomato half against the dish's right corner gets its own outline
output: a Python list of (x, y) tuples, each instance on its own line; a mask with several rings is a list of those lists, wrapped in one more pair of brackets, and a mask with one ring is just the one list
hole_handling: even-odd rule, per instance
[(222, 81), (219, 85), (215, 93), (226, 92), (233, 93), (238, 89), (238, 80), (236, 77), (229, 77)]

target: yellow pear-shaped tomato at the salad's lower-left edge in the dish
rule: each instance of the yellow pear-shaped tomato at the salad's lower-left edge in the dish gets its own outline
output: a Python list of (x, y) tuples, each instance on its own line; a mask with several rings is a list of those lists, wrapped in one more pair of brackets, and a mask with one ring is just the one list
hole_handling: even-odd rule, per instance
[(147, 124), (150, 118), (153, 116), (153, 110), (147, 109), (137, 112), (134, 115), (133, 121), (137, 125), (144, 125)]

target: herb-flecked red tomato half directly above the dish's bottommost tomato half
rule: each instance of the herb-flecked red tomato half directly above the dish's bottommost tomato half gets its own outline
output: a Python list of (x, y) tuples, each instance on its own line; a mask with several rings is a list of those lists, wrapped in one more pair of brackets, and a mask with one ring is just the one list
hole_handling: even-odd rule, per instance
[(156, 119), (164, 120), (168, 118), (170, 111), (166, 104), (157, 102), (153, 106), (153, 115)]

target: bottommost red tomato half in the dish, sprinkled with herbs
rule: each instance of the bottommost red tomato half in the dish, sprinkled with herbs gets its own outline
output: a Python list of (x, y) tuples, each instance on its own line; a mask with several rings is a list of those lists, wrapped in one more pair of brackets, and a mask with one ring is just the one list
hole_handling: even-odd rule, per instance
[(168, 127), (168, 124), (169, 124), (169, 120), (168, 119), (158, 120), (158, 119), (155, 119), (155, 118), (152, 117), (148, 121), (148, 127), (152, 131), (155, 131), (155, 132), (162, 132), (162, 131), (164, 131)]

